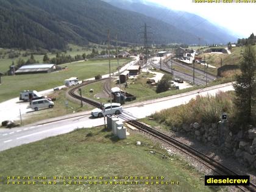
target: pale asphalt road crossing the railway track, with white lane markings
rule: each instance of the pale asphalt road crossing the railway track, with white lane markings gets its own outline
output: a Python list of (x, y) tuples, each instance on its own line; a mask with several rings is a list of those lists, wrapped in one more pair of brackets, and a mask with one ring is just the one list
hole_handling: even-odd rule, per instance
[[(166, 98), (143, 101), (125, 106), (123, 117), (135, 119), (144, 118), (152, 113), (159, 112), (165, 108), (185, 104), (197, 95), (214, 95), (218, 91), (233, 90), (232, 84), (216, 85), (201, 90), (190, 91), (188, 93), (168, 96)], [(64, 119), (53, 123), (45, 123), (37, 126), (16, 127), (13, 129), (0, 129), (0, 151), (20, 146), (21, 144), (31, 143), (42, 140), (47, 137), (71, 132), (75, 129), (101, 126), (104, 124), (104, 118), (91, 118), (91, 115), (79, 116)]]

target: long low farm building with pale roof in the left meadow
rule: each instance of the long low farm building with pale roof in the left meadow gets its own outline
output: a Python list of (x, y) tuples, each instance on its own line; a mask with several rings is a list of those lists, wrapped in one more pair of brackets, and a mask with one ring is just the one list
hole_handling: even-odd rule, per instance
[(55, 64), (33, 64), (24, 65), (20, 69), (15, 71), (15, 74), (35, 74), (35, 73), (52, 73), (62, 69), (60, 66)]

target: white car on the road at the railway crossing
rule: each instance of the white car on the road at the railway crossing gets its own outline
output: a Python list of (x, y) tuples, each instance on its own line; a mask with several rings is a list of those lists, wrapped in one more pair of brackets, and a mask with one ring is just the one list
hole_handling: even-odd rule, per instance
[[(112, 107), (111, 107), (112, 106)], [(91, 111), (91, 115), (94, 117), (101, 118), (104, 115), (118, 115), (119, 113), (123, 112), (123, 107), (119, 103), (113, 102), (112, 105), (110, 103), (103, 104), (102, 109), (101, 108), (94, 108)]]

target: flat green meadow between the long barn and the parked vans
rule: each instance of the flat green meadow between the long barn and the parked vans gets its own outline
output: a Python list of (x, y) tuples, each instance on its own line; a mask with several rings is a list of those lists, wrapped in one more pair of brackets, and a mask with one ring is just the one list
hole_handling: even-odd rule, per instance
[[(119, 65), (129, 62), (130, 59), (119, 60)], [(49, 74), (26, 74), (17, 76), (3, 76), (0, 85), (0, 102), (20, 96), (23, 90), (47, 90), (64, 84), (69, 77), (78, 77), (80, 80), (108, 73), (108, 60), (88, 60), (86, 62), (71, 63), (67, 69)], [(111, 61), (112, 72), (118, 64)]]

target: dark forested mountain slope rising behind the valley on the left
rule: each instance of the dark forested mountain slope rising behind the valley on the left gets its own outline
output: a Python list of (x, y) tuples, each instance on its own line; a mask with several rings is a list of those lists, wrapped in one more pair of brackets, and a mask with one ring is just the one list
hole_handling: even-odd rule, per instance
[(141, 26), (152, 27), (151, 43), (196, 43), (192, 35), (149, 16), (99, 0), (0, 0), (0, 47), (64, 49), (66, 43), (104, 43), (112, 38), (142, 43)]

